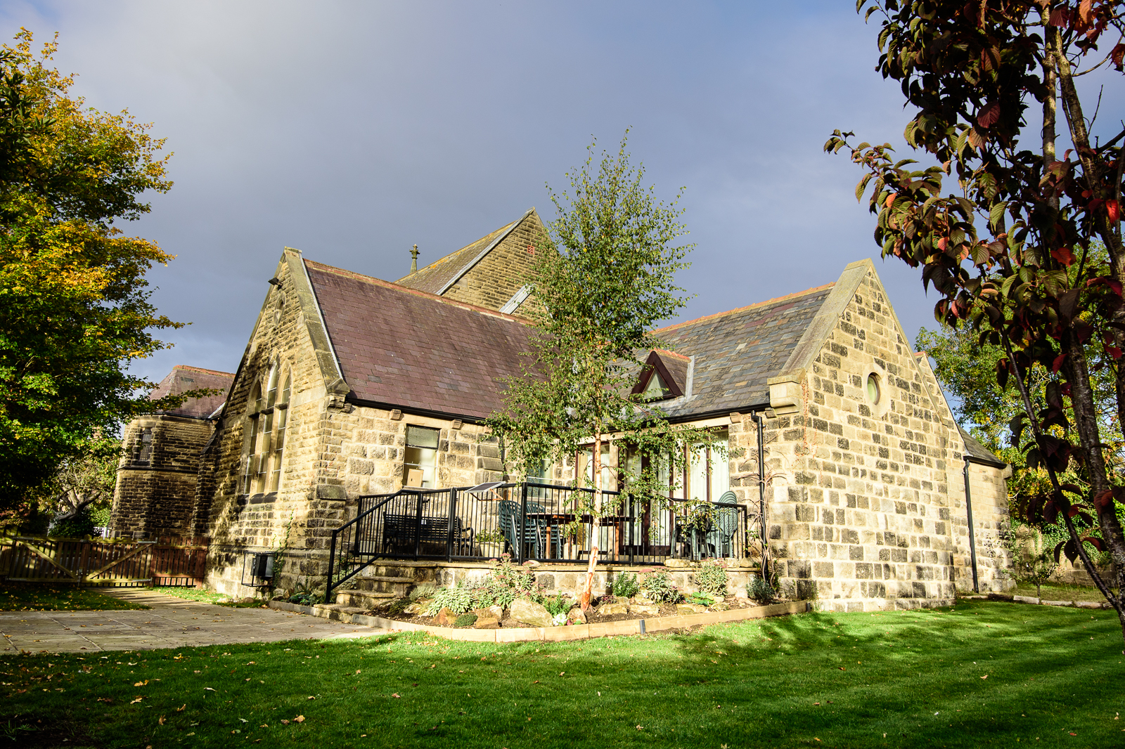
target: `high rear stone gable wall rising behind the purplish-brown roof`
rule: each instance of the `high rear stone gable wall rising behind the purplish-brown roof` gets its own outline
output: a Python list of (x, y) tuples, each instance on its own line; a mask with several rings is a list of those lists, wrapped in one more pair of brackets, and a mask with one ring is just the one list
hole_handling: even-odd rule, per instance
[(443, 296), (478, 307), (500, 309), (523, 288), (542, 237), (539, 216), (532, 211)]

